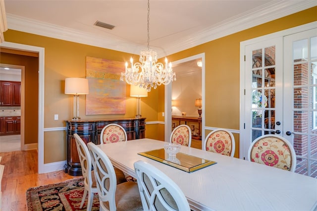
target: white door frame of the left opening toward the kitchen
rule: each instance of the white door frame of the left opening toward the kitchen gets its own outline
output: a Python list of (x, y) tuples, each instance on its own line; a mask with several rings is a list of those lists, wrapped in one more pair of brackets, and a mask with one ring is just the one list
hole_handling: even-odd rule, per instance
[(44, 171), (44, 48), (3, 42), (1, 47), (39, 53), (38, 173)]

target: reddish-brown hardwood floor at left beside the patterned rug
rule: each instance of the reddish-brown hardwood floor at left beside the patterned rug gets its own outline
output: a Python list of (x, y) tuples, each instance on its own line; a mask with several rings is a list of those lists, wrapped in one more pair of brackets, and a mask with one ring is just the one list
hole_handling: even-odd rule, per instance
[[(62, 170), (38, 174), (37, 150), (0, 153), (4, 165), (1, 181), (1, 211), (26, 211), (26, 190), (76, 178)], [(77, 176), (78, 177), (78, 176)]]

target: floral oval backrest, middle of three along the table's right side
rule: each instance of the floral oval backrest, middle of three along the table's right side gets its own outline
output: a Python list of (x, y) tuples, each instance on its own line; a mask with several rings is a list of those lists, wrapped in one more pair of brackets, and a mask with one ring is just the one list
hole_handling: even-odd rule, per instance
[(230, 131), (216, 129), (206, 136), (203, 150), (233, 157), (235, 146), (234, 137)]

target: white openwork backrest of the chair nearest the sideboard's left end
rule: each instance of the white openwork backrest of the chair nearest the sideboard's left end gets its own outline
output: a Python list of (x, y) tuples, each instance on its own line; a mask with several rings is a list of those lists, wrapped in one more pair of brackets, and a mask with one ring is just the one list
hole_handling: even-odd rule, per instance
[(87, 188), (91, 188), (93, 184), (93, 179), (91, 174), (92, 161), (91, 156), (85, 142), (79, 137), (77, 133), (74, 134), (78, 157), (81, 164), (81, 170), (84, 177), (84, 184)]

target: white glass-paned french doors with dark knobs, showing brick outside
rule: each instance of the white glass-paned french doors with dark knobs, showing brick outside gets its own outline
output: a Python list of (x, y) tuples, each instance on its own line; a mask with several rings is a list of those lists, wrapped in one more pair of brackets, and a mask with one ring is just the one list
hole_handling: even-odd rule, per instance
[(259, 136), (277, 134), (294, 146), (295, 171), (317, 177), (317, 29), (244, 48), (240, 158)]

